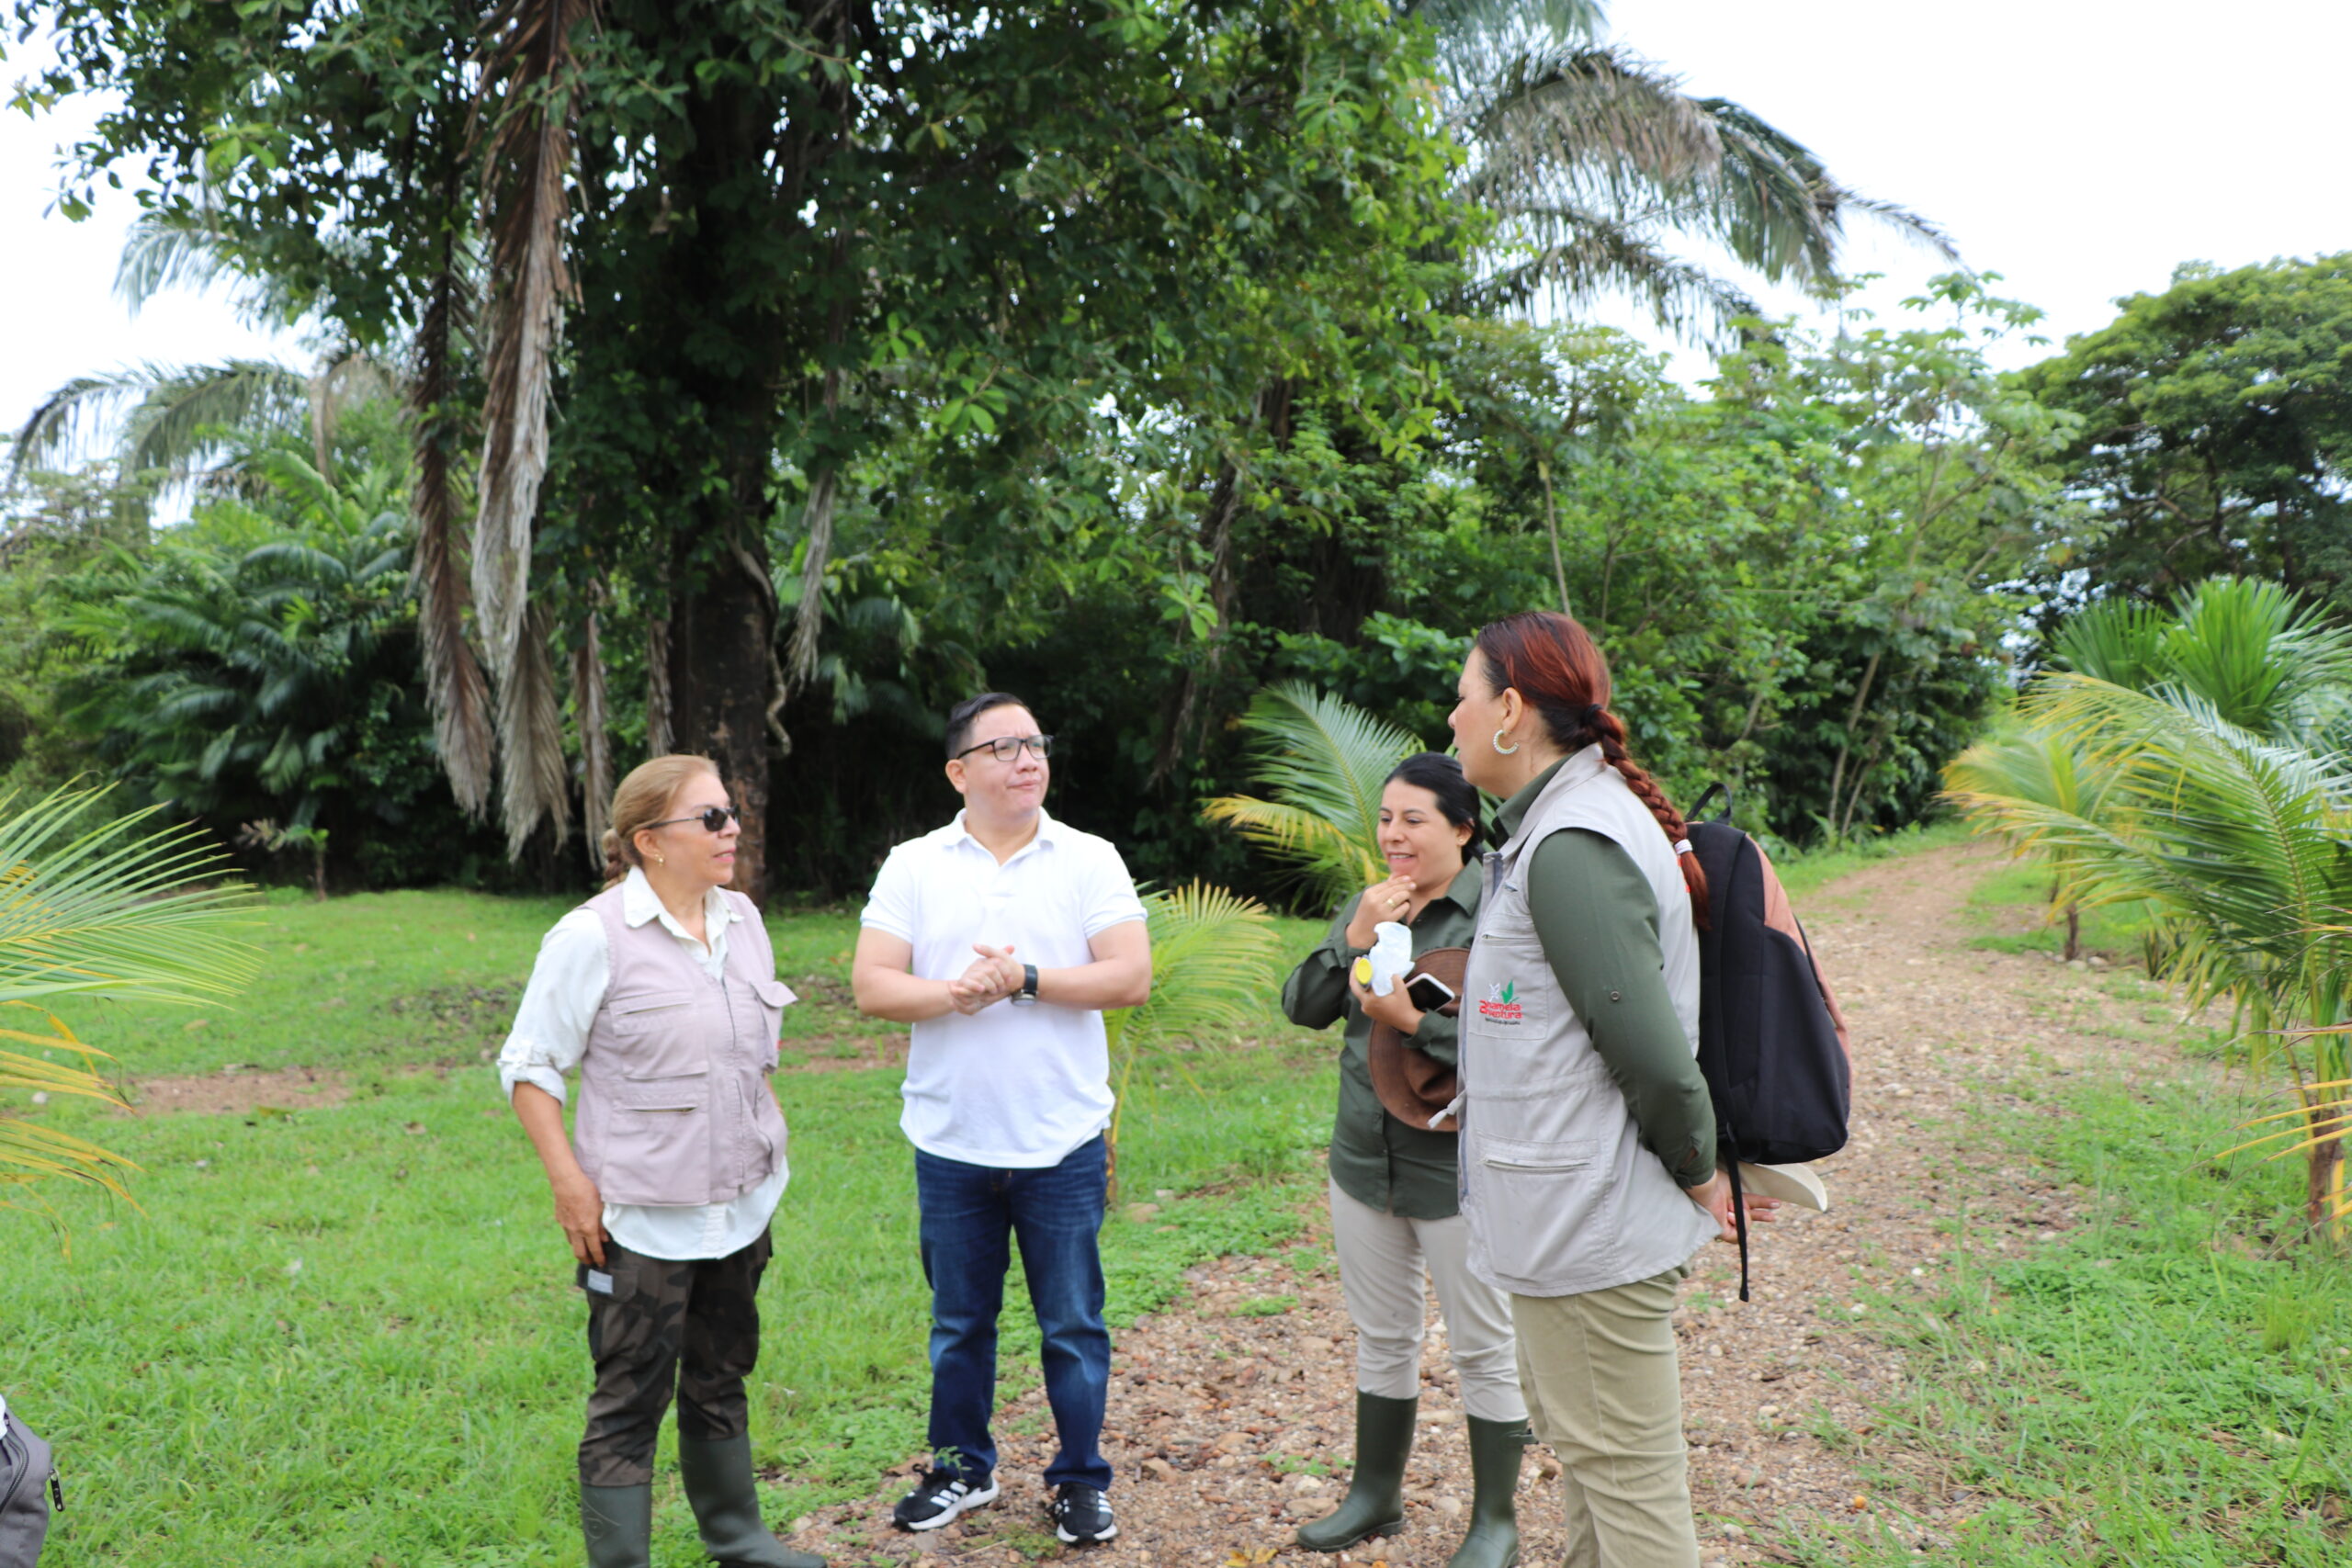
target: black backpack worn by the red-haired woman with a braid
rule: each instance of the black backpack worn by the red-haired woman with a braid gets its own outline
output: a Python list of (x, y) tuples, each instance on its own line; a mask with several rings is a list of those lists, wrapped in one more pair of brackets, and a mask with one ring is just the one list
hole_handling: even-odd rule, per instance
[[(1717, 795), (1724, 809), (1700, 820)], [(1731, 825), (1724, 785), (1698, 797), (1689, 835), (1708, 872), (1708, 929), (1698, 933), (1698, 1070), (1731, 1168), (1740, 1300), (1748, 1300), (1740, 1161), (1788, 1166), (1846, 1147), (1853, 1070), (1844, 1023), (1804, 926), (1762, 846)]]

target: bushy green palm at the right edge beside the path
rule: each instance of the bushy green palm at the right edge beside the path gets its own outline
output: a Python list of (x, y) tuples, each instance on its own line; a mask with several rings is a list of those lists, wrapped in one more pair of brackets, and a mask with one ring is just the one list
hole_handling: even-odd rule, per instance
[(2020, 712), (2067, 752), (2063, 766), (2100, 783), (2067, 797), (1964, 757), (1947, 795), (2046, 856), (2063, 898), (2150, 903), (2152, 969), (2192, 1004), (2230, 999), (2253, 1063), (2286, 1070), (2305, 1211), (2340, 1237), (2352, 1218), (2352, 766), (2331, 736), (2352, 693), (2352, 635), (2277, 585), (2213, 581), (2171, 618), (2091, 618), (2060, 654), (2077, 668), (2044, 675)]

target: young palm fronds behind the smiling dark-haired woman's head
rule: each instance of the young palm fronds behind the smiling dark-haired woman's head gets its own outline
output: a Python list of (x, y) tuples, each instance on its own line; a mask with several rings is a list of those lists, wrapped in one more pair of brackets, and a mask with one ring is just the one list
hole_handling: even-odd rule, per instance
[(1322, 907), (1378, 882), (1381, 785), (1421, 741), (1298, 682), (1254, 696), (1242, 729), (1258, 741), (1251, 776), (1265, 797), (1221, 795), (1202, 816), (1296, 867)]

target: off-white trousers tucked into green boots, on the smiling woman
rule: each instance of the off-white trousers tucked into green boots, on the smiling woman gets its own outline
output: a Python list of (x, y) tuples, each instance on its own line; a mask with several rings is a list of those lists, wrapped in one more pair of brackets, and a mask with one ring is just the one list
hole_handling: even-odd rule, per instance
[(1510, 1298), (1470, 1272), (1470, 1225), (1461, 1215), (1406, 1220), (1331, 1182), (1331, 1251), (1355, 1321), (1355, 1387), (1381, 1399), (1421, 1396), (1425, 1293), (1435, 1284), (1463, 1410), (1479, 1420), (1526, 1418), (1510, 1349)]

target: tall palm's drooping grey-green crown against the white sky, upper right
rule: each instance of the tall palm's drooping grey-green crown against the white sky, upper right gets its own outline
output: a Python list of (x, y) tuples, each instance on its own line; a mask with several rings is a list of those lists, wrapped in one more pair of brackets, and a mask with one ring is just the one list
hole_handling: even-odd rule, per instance
[(1409, 0), (1399, 12), (1437, 33), (1439, 113), (1465, 150), (1461, 195), (1496, 216), (1461, 301), (1470, 310), (1632, 294), (1663, 327), (1722, 336), (1757, 306), (1682, 244), (1820, 289), (1856, 216), (1957, 259), (1936, 226), (1844, 188), (1797, 139), (1602, 45), (1604, 0)]

